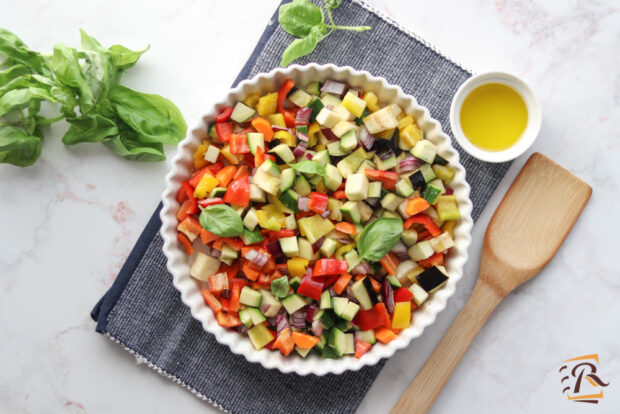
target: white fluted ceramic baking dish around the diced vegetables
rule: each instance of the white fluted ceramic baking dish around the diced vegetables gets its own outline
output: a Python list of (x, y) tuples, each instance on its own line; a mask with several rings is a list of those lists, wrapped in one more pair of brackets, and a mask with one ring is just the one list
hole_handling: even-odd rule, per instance
[(425, 107), (420, 106), (414, 97), (405, 94), (400, 87), (390, 85), (385, 78), (372, 76), (366, 71), (358, 71), (349, 66), (291, 65), (268, 73), (260, 73), (252, 79), (239, 83), (223, 100), (208, 108), (207, 116), (198, 128), (205, 128), (205, 122), (213, 121), (218, 108), (233, 105), (250, 93), (263, 94), (276, 91), (286, 78), (292, 78), (301, 85), (311, 81), (340, 80), (353, 87), (372, 91), (377, 94), (381, 104), (396, 103), (407, 114), (413, 115), (420, 129), (424, 131), (425, 138), (439, 147), (439, 154), (446, 158), (450, 166), (456, 170), (450, 185), (454, 188), (462, 217), (454, 230), (455, 246), (451, 249), (446, 261), (446, 268), (450, 275), (448, 283), (431, 295), (429, 300), (413, 313), (413, 322), (409, 329), (403, 330), (395, 340), (388, 344), (377, 343), (360, 359), (354, 357), (323, 359), (314, 353), (310, 353), (306, 358), (296, 353), (285, 357), (280, 352), (267, 349), (257, 351), (247, 335), (241, 335), (217, 324), (215, 315), (204, 303), (196, 282), (189, 275), (191, 260), (177, 242), (176, 211), (179, 204), (175, 200), (175, 194), (180, 183), (191, 173), (193, 153), (200, 144), (200, 138), (194, 134), (189, 134), (181, 142), (176, 156), (172, 159), (172, 170), (166, 176), (166, 189), (162, 195), (163, 208), (161, 210), (163, 250), (168, 259), (168, 270), (173, 276), (173, 284), (181, 292), (183, 303), (190, 308), (192, 316), (202, 323), (205, 331), (215, 335), (218, 342), (227, 345), (235, 354), (243, 355), (250, 362), (260, 363), (265, 368), (275, 368), (283, 373), (325, 375), (341, 374), (349, 370), (356, 371), (366, 365), (374, 365), (382, 358), (389, 358), (398, 349), (409, 345), (413, 338), (420, 336), (424, 328), (435, 321), (437, 313), (446, 307), (447, 299), (454, 293), (456, 282), (462, 276), (463, 265), (467, 260), (467, 249), (471, 242), (472, 204), (469, 199), (469, 185), (465, 181), (465, 169), (459, 163), (459, 155), (452, 148), (450, 138), (442, 132), (439, 123), (431, 118)]

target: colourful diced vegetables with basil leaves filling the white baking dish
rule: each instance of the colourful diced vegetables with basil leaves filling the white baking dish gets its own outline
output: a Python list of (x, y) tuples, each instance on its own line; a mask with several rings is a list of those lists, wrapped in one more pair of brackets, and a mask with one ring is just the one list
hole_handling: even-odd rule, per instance
[(448, 280), (455, 171), (399, 106), (289, 79), (203, 136), (178, 240), (218, 323), (256, 349), (361, 358)]

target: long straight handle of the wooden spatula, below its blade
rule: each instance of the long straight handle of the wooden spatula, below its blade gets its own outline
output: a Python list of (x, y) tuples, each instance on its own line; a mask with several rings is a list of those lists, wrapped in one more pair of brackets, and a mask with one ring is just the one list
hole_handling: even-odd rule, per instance
[(398, 400), (392, 414), (422, 414), (431, 408), (474, 337), (502, 299), (483, 279), (478, 279), (465, 307)]

